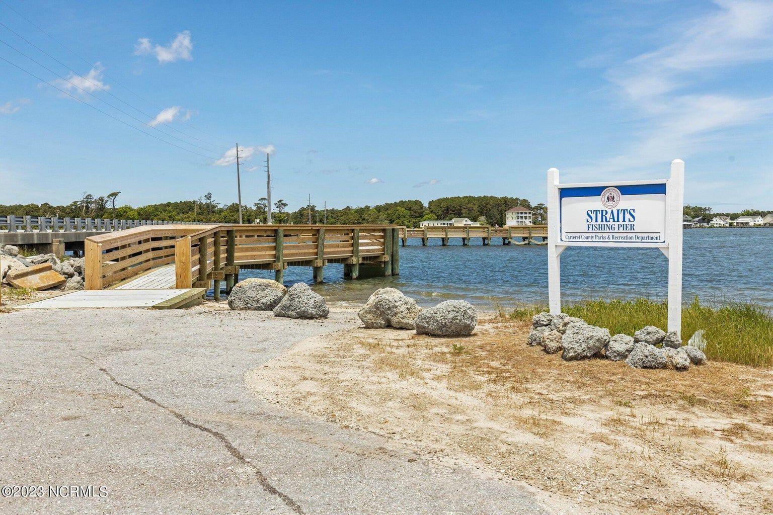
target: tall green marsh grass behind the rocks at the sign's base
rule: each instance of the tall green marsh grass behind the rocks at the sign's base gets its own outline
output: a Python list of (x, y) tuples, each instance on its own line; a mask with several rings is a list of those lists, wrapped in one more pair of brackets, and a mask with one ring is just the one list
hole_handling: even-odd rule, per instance
[[(518, 305), (510, 310), (498, 308), (512, 320), (529, 320), (546, 311), (544, 305)], [(666, 328), (668, 306), (649, 299), (588, 300), (563, 308), (564, 313), (588, 324), (607, 327), (611, 334), (630, 334), (647, 325)], [(773, 313), (754, 303), (726, 302), (702, 304), (696, 298), (682, 308), (682, 338), (686, 342), (703, 329), (709, 359), (773, 367)]]

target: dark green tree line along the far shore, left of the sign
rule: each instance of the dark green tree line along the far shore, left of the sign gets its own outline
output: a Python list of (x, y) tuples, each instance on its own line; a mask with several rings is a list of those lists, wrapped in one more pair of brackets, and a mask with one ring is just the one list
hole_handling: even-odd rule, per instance
[[(26, 204), (0, 205), (0, 214), (82, 217), (100, 219), (169, 220), (178, 222), (223, 222), (239, 221), (239, 205), (215, 202), (212, 193), (206, 193), (195, 200), (163, 202), (133, 208), (131, 205), (116, 205), (121, 191), (95, 197), (83, 193), (80, 199), (68, 205)], [(315, 205), (301, 206), (288, 211), (284, 199), (272, 202), (272, 222), (281, 224), (305, 224), (311, 218), (312, 224), (398, 224), (418, 227), (423, 220), (448, 220), (468, 218), (473, 222), (489, 225), (505, 225), (505, 212), (520, 205), (533, 209), (535, 223), (547, 218), (544, 204), (531, 205), (525, 198), (495, 196), (445, 197), (431, 200), (424, 205), (419, 200), (401, 200), (380, 205), (362, 207), (329, 208), (325, 212)], [(242, 206), (245, 223), (266, 223), (267, 199), (260, 198), (253, 205)]]

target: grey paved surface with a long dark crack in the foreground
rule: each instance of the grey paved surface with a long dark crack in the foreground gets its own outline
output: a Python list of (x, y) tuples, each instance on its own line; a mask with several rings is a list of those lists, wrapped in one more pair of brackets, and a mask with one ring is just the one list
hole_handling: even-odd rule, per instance
[(204, 308), (0, 313), (0, 478), (46, 486), (0, 498), (0, 512), (546, 513), (513, 483), (247, 392), (247, 371), (352, 325)]

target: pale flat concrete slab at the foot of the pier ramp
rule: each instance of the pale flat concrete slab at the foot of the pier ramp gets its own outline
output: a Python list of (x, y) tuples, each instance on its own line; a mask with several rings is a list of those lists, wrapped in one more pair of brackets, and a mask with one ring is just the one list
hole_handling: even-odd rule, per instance
[(80, 290), (17, 306), (19, 309), (154, 307), (190, 290)]

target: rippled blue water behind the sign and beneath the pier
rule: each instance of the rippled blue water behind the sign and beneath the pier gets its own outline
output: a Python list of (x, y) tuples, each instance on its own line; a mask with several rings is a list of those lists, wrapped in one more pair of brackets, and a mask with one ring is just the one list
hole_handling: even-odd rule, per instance
[[(333, 303), (363, 303), (377, 288), (393, 286), (422, 305), (463, 299), (479, 307), (494, 303), (547, 302), (545, 246), (482, 246), (461, 239), (411, 239), (400, 249), (400, 276), (343, 280), (343, 266), (325, 266), (325, 283), (312, 287)], [(683, 298), (755, 300), (773, 307), (773, 228), (691, 229), (684, 232)], [(244, 270), (240, 279), (274, 273)], [(658, 249), (584, 249), (561, 254), (562, 300), (599, 296), (665, 299), (668, 262)], [(284, 283), (311, 283), (312, 269), (290, 267)]]

